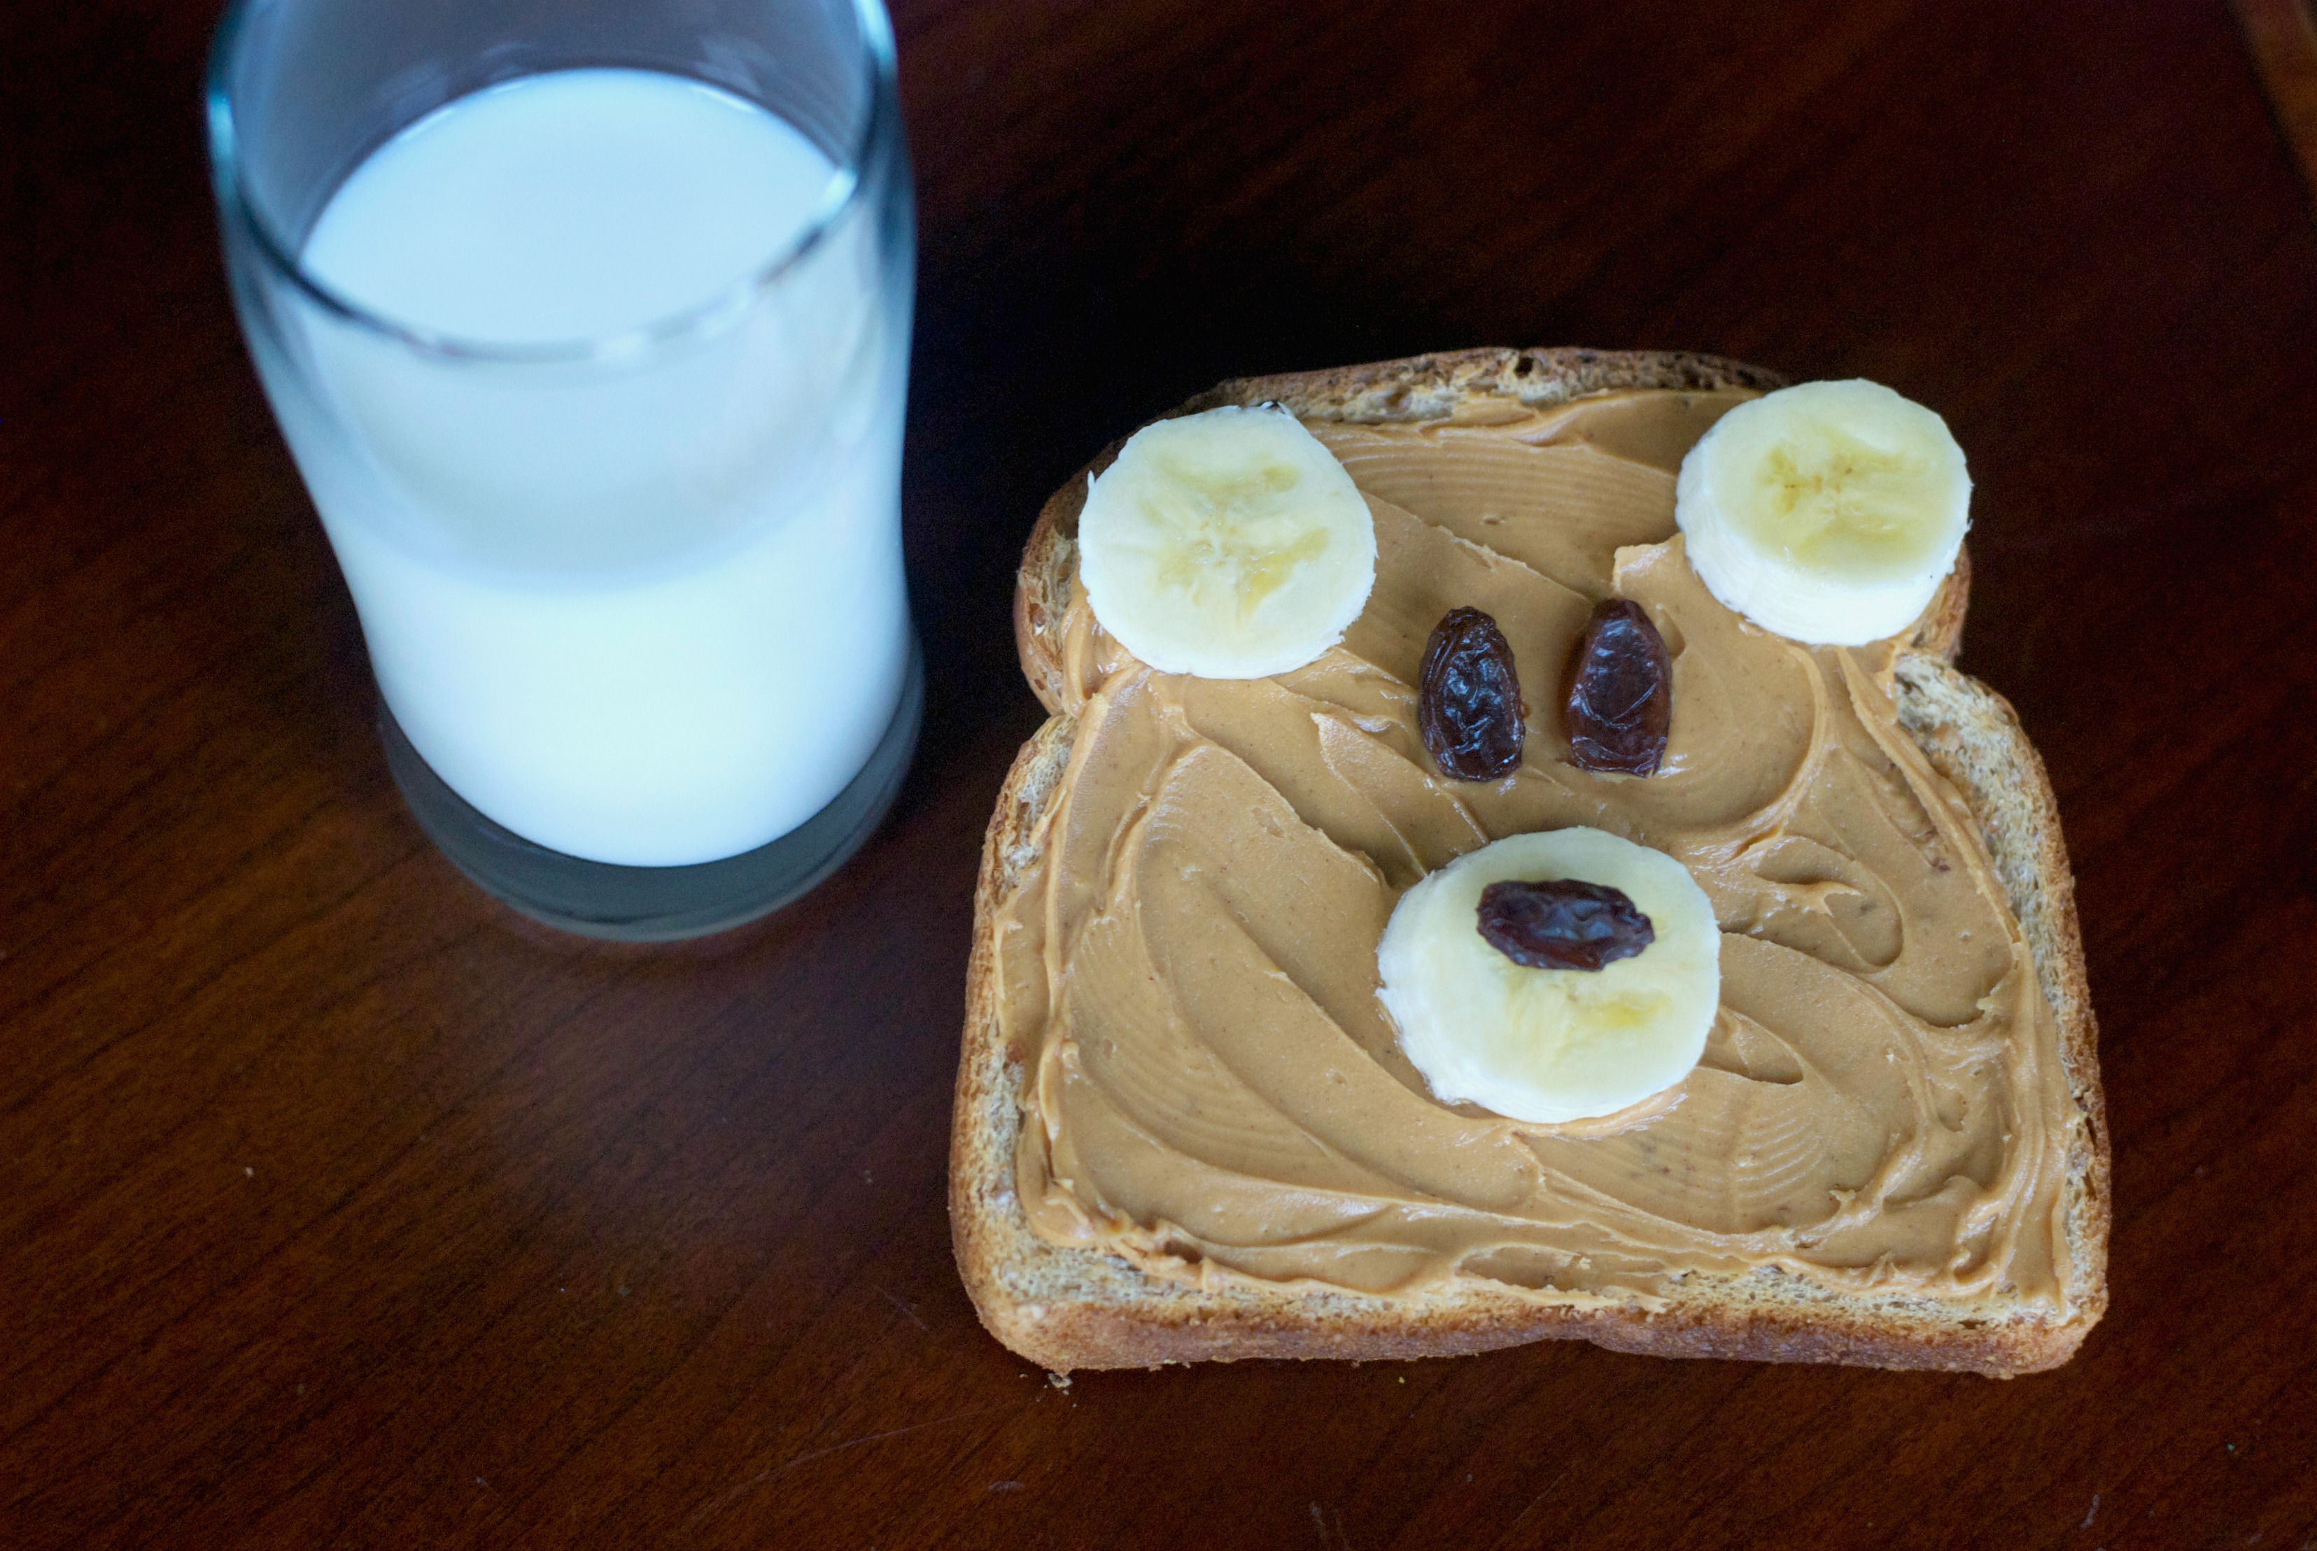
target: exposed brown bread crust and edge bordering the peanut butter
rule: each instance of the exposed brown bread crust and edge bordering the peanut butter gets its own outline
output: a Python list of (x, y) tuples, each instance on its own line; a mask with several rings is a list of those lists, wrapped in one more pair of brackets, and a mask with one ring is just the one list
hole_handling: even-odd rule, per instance
[[(1694, 354), (1471, 350), (1323, 373), (1226, 382), (1177, 414), (1281, 403), (1307, 421), (1434, 421), (1483, 400), (1548, 407), (1615, 389), (1775, 389), (1770, 373)], [(1800, 1276), (1684, 1278), (1652, 1310), (1552, 1303), (1478, 1278), (1369, 1296), (1346, 1289), (1214, 1278), (1161, 1280), (1124, 1257), (1040, 1238), (1015, 1192), (1022, 1083), (1033, 1051), (1008, 1049), (999, 1021), (996, 921), (1040, 861), (1038, 819), (1061, 787), (1075, 720), (1059, 627), (1075, 574), (1075, 523), (1105, 449), (1047, 502), (1015, 595), (1022, 669), (1054, 718), (1022, 748), (982, 850), (966, 984), (964, 1051), (950, 1137), (950, 1222), (959, 1273), (982, 1324), (1054, 1370), (1242, 1357), (1434, 1357), (1550, 1338), (1585, 1338), (1659, 1357), (1837, 1361), (1988, 1375), (2064, 1363), (2106, 1308), (2108, 1141), (2095, 1026), (2083, 979), (2074, 877), (2044, 762), (2011, 706), (1951, 667), (1967, 569), (1925, 611), (1898, 657), (1900, 725), (1953, 782), (1995, 861), (2034, 972), (2060, 1028), (2074, 1116), (2067, 1127), (2062, 1234), (2078, 1269), (2057, 1313), (2000, 1296), (1932, 1299), (1833, 1292)]]

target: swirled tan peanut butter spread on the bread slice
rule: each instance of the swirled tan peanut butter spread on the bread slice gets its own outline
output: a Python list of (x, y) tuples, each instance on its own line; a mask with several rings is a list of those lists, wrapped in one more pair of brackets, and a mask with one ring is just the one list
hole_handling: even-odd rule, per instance
[[(1293, 674), (1156, 674), (1073, 593), (1075, 743), (999, 924), (1040, 1236), (1177, 1280), (1369, 1294), (1488, 1278), (1652, 1306), (1773, 1264), (2069, 1301), (2057, 1023), (1967, 808), (1895, 720), (1895, 648), (1761, 632), (1682, 558), (1675, 470), (1740, 398), (1314, 424), (1379, 563), (1342, 646)], [(1610, 595), (1673, 655), (1652, 778), (1566, 762), (1566, 664)], [(1520, 769), (1485, 785), (1443, 780), (1416, 734), (1425, 639), (1462, 604), (1504, 627), (1529, 706)], [(1439, 1104), (1376, 1000), (1393, 903), (1566, 824), (1678, 857), (1712, 901), (1705, 1058), (1580, 1127)]]

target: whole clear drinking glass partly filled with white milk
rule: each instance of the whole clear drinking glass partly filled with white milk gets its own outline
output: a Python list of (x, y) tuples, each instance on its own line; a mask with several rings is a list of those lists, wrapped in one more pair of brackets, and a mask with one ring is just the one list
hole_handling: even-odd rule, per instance
[(236, 0), (209, 127), (436, 845), (639, 940), (834, 870), (922, 706), (878, 0)]

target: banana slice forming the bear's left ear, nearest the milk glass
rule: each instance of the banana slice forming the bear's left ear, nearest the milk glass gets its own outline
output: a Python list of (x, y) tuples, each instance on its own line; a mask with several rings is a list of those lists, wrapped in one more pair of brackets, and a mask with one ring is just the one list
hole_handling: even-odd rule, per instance
[(1126, 438), (1087, 491), (1077, 574), (1103, 630), (1154, 669), (1263, 678), (1360, 618), (1376, 523), (1293, 414), (1230, 405)]

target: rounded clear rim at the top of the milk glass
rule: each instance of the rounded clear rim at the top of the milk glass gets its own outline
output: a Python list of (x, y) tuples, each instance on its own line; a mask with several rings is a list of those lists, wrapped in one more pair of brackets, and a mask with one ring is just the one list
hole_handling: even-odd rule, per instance
[[(447, 356), (454, 361), (475, 363), (519, 363), (519, 366), (551, 366), (565, 361), (621, 361), (642, 354), (651, 354), (667, 345), (681, 340), (718, 333), (725, 324), (748, 313), (755, 301), (779, 285), (797, 264), (802, 264), (843, 220), (853, 206), (862, 201), (862, 190), (869, 178), (864, 176), (876, 153), (880, 139), (892, 132), (894, 104), (899, 95), (899, 83), (894, 76), (894, 44), (892, 44), (892, 21), (885, 16), (883, 0), (853, 0), (853, 16), (860, 21), (862, 30), (862, 56), (867, 65), (867, 102), (869, 111), (862, 113), (860, 132), (853, 137), (853, 146), (836, 171), (829, 176), (829, 185), (820, 197), (820, 206), (813, 215), (790, 236), (765, 264), (741, 275), (732, 285), (723, 287), (714, 296), (688, 303), (656, 317), (646, 324), (633, 329), (619, 329), (616, 333), (605, 333), (595, 338), (575, 340), (544, 340), (535, 345), (517, 345), (510, 340), (477, 340), (447, 331), (422, 329), (417, 324), (399, 322), (378, 313), (345, 292), (324, 285), (315, 273), (310, 273), (301, 255), (292, 252), (283, 234), (266, 220), (264, 211), (248, 197), (248, 185), (241, 178), (241, 134), (234, 120), (232, 60), (241, 53), (241, 37), (248, 23), (248, 14), (264, 5), (266, 0), (232, 0), (225, 7), (225, 16), (218, 21), (218, 32), (209, 46), (209, 67), (204, 72), (204, 102), (209, 116), (209, 171), (218, 194), (218, 211), (225, 220), (239, 222), (250, 236), (266, 269), (278, 278), (287, 280), (297, 292), (301, 292), (317, 308), (338, 317), (341, 322), (355, 324), (368, 333), (405, 345), (419, 354)], [(589, 69), (586, 65), (570, 65), (570, 69)], [(607, 67), (609, 69), (609, 67)], [(674, 72), (670, 72), (674, 74)], [(521, 76), (510, 76), (521, 79)], [(700, 81), (716, 90), (730, 90), (716, 81), (702, 76), (684, 76), (688, 81)], [(503, 86), (503, 81), (491, 81), (477, 90), (491, 90), (491, 86)], [(461, 102), (475, 93), (461, 93), (447, 102), (429, 109), (438, 113), (452, 102)], [(762, 104), (755, 104), (762, 106)], [(419, 116), (424, 118), (424, 113)], [(417, 123), (412, 118), (410, 123)], [(410, 125), (399, 125), (394, 134), (401, 134)], [(389, 137), (392, 139), (392, 137)], [(385, 141), (380, 141), (385, 144)]]

